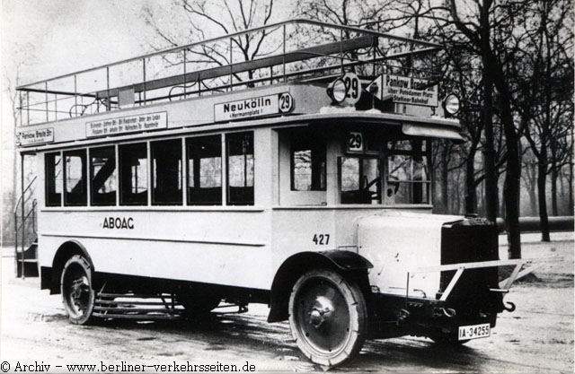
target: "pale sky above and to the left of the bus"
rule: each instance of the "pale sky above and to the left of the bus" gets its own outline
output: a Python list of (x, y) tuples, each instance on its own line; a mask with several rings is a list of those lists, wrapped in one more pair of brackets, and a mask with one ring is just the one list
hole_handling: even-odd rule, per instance
[[(155, 22), (163, 30), (185, 32), (188, 20), (173, 3), (174, 0), (0, 0), (0, 211), (8, 206), (4, 201), (6, 190), (13, 189), (15, 152), (9, 86), (137, 57), (153, 51), (153, 46), (163, 48), (146, 25), (144, 9), (154, 13)], [(271, 22), (286, 19), (291, 4), (292, 0), (276, 0)]]

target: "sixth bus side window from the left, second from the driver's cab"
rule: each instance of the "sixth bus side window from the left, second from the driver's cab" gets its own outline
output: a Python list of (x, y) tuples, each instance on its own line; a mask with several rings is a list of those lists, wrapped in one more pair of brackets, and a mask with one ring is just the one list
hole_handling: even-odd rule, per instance
[(189, 138), (188, 204), (222, 204), (222, 141), (220, 135)]

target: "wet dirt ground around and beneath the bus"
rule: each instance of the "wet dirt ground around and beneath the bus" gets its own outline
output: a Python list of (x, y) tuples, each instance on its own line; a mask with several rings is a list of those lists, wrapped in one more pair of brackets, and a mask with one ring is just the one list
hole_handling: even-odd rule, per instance
[[(500, 314), (490, 338), (457, 349), (411, 336), (369, 341), (357, 359), (332, 371), (573, 372), (573, 233), (555, 233), (551, 243), (538, 239), (535, 234), (522, 237), (524, 258), (560, 256), (563, 261), (544, 263), (535, 271), (536, 279), (512, 287), (506, 300), (514, 302), (517, 310)], [(220, 371), (226, 370), (226, 364), (236, 365), (238, 371), (322, 371), (297, 350), (287, 323), (266, 322), (265, 306), (251, 305), (246, 314), (217, 316), (201, 324), (107, 320), (95, 326), (73, 326), (59, 296), (40, 291), (37, 278), (14, 279), (11, 256), (11, 249), (4, 248), (3, 372), (4, 362), (10, 365), (9, 372), (30, 364), (26, 371), (48, 369), (36, 364), (50, 365), (45, 371), (51, 373), (80, 370), (66, 366), (71, 364), (93, 364), (94, 371), (101, 372), (126, 371), (127, 365), (142, 364), (147, 372), (167, 372), (174, 363), (216, 365), (201, 368)], [(504, 245), (500, 257), (507, 257)]]

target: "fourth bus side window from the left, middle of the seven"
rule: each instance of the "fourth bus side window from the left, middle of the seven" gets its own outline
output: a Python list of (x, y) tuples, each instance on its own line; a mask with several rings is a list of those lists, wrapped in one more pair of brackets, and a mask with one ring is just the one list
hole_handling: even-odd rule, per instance
[(119, 204), (147, 204), (146, 143), (120, 145)]

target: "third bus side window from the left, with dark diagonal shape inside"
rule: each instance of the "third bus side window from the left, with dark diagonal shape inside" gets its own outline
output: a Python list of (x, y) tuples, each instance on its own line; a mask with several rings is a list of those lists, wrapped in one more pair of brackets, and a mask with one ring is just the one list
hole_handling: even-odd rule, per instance
[(113, 146), (90, 150), (91, 204), (116, 204), (116, 153)]

